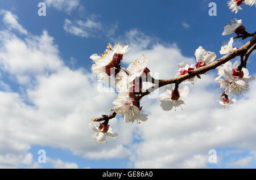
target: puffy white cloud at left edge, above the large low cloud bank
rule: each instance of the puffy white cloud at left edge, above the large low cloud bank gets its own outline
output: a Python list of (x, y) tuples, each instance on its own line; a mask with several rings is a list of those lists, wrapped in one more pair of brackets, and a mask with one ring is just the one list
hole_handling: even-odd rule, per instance
[(41, 36), (20, 39), (10, 31), (0, 32), (0, 68), (26, 84), (35, 75), (45, 74), (63, 65), (53, 38), (43, 31)]

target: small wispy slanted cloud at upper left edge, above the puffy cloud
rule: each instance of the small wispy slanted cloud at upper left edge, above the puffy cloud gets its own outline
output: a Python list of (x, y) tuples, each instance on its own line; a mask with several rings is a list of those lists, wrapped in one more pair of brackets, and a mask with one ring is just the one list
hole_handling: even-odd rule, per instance
[(3, 23), (5, 23), (9, 29), (15, 29), (16, 31), (27, 35), (27, 30), (18, 23), (18, 16), (12, 14), (10, 11), (0, 10), (0, 15), (3, 15)]

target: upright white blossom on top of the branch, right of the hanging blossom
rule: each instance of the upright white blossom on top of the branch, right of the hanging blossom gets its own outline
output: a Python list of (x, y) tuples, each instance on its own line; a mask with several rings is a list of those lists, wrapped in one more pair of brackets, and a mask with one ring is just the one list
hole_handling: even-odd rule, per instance
[(197, 61), (196, 68), (208, 65), (216, 59), (215, 53), (204, 50), (202, 46), (196, 49), (195, 56)]

